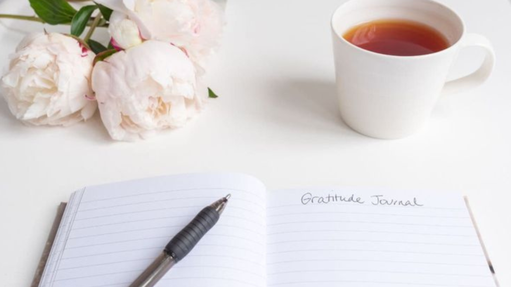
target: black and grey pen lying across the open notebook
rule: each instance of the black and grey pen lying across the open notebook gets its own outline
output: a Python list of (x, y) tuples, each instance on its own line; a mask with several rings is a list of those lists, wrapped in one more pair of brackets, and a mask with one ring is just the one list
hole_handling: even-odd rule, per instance
[(218, 221), (230, 194), (204, 207), (195, 218), (172, 238), (161, 254), (129, 287), (152, 287), (172, 266), (195, 247), (200, 238)]

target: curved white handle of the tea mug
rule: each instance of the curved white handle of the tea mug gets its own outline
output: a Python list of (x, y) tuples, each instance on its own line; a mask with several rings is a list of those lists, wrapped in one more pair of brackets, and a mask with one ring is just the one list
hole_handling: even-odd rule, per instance
[(461, 48), (469, 46), (482, 47), (486, 55), (481, 66), (472, 74), (448, 81), (443, 90), (446, 94), (466, 91), (479, 86), (490, 77), (495, 65), (495, 52), (493, 51), (492, 43), (486, 37), (479, 34), (467, 34), (461, 40), (460, 46)]

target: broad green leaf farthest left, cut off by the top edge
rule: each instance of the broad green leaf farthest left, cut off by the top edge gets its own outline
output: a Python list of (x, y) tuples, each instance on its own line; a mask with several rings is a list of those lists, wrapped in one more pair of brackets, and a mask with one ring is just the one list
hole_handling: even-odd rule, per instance
[(65, 0), (29, 0), (34, 12), (51, 25), (70, 23), (76, 14)]

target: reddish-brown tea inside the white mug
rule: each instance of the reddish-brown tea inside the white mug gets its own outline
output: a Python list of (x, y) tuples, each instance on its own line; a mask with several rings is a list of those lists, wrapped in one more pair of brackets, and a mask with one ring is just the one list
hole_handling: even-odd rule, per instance
[(393, 56), (419, 56), (442, 51), (449, 41), (423, 23), (381, 19), (352, 27), (344, 39), (362, 49)]

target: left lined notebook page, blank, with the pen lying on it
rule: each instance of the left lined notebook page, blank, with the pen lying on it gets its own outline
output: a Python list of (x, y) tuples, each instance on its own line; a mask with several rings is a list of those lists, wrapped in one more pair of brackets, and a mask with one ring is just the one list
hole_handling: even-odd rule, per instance
[(235, 174), (80, 190), (66, 209), (40, 286), (128, 286), (202, 208), (228, 193), (232, 200), (217, 225), (158, 286), (264, 287), (265, 188)]

